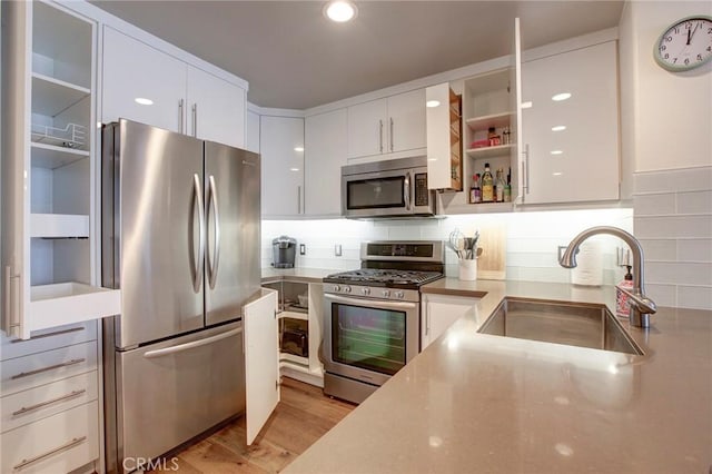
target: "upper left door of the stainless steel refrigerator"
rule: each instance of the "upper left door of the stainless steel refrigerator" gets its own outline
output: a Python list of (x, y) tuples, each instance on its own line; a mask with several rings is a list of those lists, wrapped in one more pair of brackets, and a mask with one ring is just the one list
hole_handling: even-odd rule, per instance
[(116, 342), (131, 347), (204, 326), (202, 141), (128, 120), (113, 130)]

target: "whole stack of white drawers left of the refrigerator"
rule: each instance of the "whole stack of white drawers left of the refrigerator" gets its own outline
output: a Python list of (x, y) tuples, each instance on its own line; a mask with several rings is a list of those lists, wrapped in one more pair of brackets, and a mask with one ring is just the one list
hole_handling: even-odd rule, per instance
[(97, 323), (0, 339), (0, 472), (100, 471)]

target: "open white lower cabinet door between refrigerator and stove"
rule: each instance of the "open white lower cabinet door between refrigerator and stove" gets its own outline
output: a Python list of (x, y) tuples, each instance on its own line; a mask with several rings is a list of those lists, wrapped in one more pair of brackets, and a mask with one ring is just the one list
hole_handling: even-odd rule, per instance
[(277, 292), (245, 305), (245, 383), (247, 398), (247, 445), (253, 444), (279, 402), (279, 347)]

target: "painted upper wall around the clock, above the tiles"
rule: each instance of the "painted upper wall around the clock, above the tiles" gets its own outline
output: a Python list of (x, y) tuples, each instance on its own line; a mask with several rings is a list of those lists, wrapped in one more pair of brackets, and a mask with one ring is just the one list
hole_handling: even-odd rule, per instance
[(634, 171), (712, 165), (712, 62), (681, 73), (653, 59), (659, 36), (692, 14), (712, 16), (712, 2), (633, 1), (624, 7), (619, 28), (622, 131)]

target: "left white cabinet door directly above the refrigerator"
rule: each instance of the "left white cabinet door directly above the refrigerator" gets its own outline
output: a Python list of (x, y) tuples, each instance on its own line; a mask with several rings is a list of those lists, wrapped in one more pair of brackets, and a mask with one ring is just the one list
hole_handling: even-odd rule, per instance
[(102, 77), (102, 122), (125, 118), (187, 132), (185, 62), (105, 27)]

